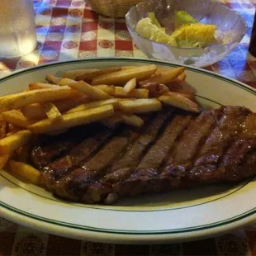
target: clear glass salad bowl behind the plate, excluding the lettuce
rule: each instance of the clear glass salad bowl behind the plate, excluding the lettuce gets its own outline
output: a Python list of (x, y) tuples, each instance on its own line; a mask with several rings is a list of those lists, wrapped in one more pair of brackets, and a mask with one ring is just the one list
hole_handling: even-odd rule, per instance
[[(178, 48), (146, 39), (135, 32), (140, 19), (154, 12), (168, 33), (173, 31), (174, 13), (185, 11), (202, 23), (217, 25), (216, 36), (220, 43), (205, 48)], [(177, 64), (205, 67), (223, 59), (242, 40), (246, 25), (237, 12), (212, 0), (148, 0), (131, 7), (126, 14), (126, 25), (135, 44), (151, 59)]]

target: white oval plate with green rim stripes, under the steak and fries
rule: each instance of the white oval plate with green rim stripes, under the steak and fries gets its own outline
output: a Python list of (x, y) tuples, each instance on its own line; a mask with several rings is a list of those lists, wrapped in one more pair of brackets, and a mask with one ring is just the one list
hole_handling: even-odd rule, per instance
[[(148, 59), (78, 59), (37, 66), (0, 79), (0, 95), (20, 92), (47, 73), (121, 65), (175, 64)], [(187, 67), (187, 83), (206, 107), (241, 105), (256, 111), (256, 91), (230, 78)], [(254, 178), (232, 185), (186, 189), (120, 201), (115, 206), (75, 204), (0, 173), (0, 214), (55, 235), (112, 243), (167, 243), (206, 238), (256, 220)]]

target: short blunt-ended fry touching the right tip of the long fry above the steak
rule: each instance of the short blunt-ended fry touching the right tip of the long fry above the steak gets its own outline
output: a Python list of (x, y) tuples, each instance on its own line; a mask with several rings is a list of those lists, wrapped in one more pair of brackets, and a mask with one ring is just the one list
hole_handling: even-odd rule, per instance
[(119, 102), (121, 111), (126, 113), (144, 113), (159, 111), (162, 108), (161, 102), (156, 98), (125, 100)]

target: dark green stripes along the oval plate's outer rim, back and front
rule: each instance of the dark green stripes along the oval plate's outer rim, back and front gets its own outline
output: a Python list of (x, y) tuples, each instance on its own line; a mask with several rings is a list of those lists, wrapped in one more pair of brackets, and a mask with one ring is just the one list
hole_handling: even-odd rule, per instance
[[(112, 62), (120, 62), (120, 61), (126, 61), (126, 62), (140, 62), (140, 63), (151, 63), (151, 64), (160, 64), (160, 65), (165, 65), (165, 66), (169, 66), (169, 67), (178, 67), (178, 66), (182, 66), (179, 64), (168, 64), (165, 62), (161, 62), (161, 61), (156, 61), (156, 60), (151, 60), (151, 59), (126, 59), (126, 58), (107, 58), (107, 59), (76, 59), (76, 60), (71, 60), (71, 61), (66, 61), (66, 62), (57, 62), (57, 63), (51, 63), (51, 64), (45, 64), (45, 65), (41, 65), (41, 66), (36, 66), (34, 68), (31, 69), (25, 69), (25, 70), (21, 70), (21, 71), (17, 71), (15, 73), (10, 74), (9, 76), (5, 77), (5, 78), (1, 78), (0, 79), (0, 83), (4, 82), (8, 79), (11, 79), (13, 77), (19, 76), (23, 73), (31, 73), (34, 70), (37, 69), (47, 69), (50, 66), (61, 66), (61, 65), (66, 65), (66, 64), (73, 64), (73, 63), (81, 63), (81, 62), (101, 62), (101, 61), (112, 61)], [(189, 66), (186, 66), (186, 69), (188, 70), (192, 70), (193, 72), (196, 73), (204, 73), (207, 74), (211, 77), (215, 77), (215, 78), (219, 78), (221, 80), (227, 81), (229, 83), (232, 83), (233, 85), (244, 89), (247, 92), (253, 93), (254, 95), (256, 94), (256, 91), (253, 88), (248, 88), (246, 87), (244, 84), (236, 82), (230, 78), (225, 78), (219, 74), (216, 73), (212, 73), (203, 69), (196, 69), (196, 68), (192, 68)], [(198, 97), (198, 96), (197, 96)], [(210, 100), (210, 99), (207, 99)], [(211, 102), (214, 102), (212, 100), (210, 100)], [(217, 103), (217, 102), (216, 102)], [(248, 183), (246, 183), (248, 184)], [(245, 184), (245, 185), (246, 185)], [(245, 186), (244, 185), (244, 186)], [(243, 187), (244, 187), (243, 186)], [(20, 214), (21, 216), (28, 216), (34, 220), (40, 220), (52, 225), (59, 225), (59, 226), (63, 226), (63, 227), (68, 227), (68, 228), (72, 228), (72, 229), (76, 229), (76, 230), (87, 230), (87, 231), (94, 231), (94, 232), (101, 232), (101, 233), (111, 233), (111, 234), (121, 234), (121, 235), (170, 235), (170, 234), (178, 234), (178, 233), (186, 233), (186, 232), (192, 232), (192, 231), (199, 231), (199, 230), (206, 230), (206, 229), (212, 229), (212, 228), (217, 228), (220, 227), (221, 225), (228, 225), (230, 223), (234, 223), (235, 221), (238, 220), (242, 220), (246, 217), (252, 216), (254, 215), (254, 213), (256, 213), (256, 207), (254, 207), (253, 209), (244, 212), (243, 214), (240, 214), (239, 216), (235, 216), (226, 220), (221, 220), (221, 221), (217, 221), (208, 225), (197, 225), (195, 227), (190, 227), (190, 228), (183, 228), (183, 229), (173, 229), (173, 230), (146, 230), (146, 231), (138, 231), (138, 230), (111, 230), (111, 229), (101, 229), (101, 228), (93, 228), (90, 226), (86, 226), (86, 225), (74, 225), (71, 223), (67, 223), (64, 221), (58, 221), (58, 220), (51, 220), (51, 219), (47, 219), (44, 217), (40, 217), (40, 216), (36, 216), (33, 215), (31, 213), (27, 213), (26, 211), (21, 211), (13, 206), (9, 206), (6, 203), (0, 201), (0, 205), (4, 208), (6, 208), (9, 211), (13, 211), (17, 214)], [(161, 211), (161, 210), (159, 210)]]

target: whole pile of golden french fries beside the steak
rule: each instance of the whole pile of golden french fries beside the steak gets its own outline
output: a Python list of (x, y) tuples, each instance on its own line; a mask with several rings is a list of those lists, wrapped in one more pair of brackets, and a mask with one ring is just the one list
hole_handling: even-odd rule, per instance
[(140, 113), (160, 111), (163, 104), (199, 111), (194, 93), (183, 88), (184, 71), (154, 64), (71, 70), (62, 78), (49, 74), (45, 83), (30, 83), (24, 92), (0, 97), (0, 168), (9, 163), (13, 173), (38, 185), (40, 172), (26, 164), (26, 157), (15, 159), (35, 135), (59, 135), (96, 121), (140, 127)]

